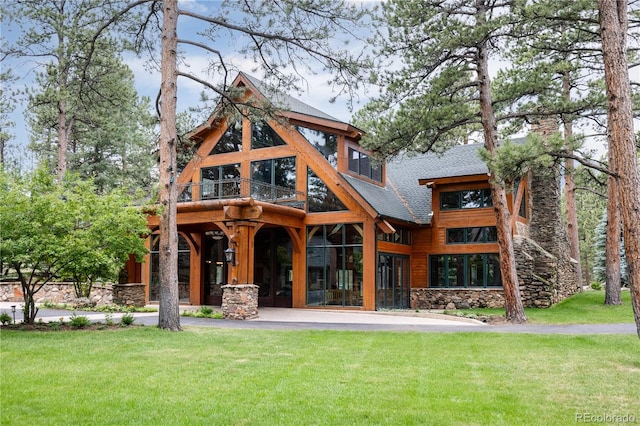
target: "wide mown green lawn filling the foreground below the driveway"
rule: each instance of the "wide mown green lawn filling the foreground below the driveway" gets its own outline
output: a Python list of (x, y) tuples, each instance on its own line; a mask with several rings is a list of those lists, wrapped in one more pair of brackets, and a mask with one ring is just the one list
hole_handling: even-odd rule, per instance
[(2, 424), (640, 422), (635, 335), (0, 331)]

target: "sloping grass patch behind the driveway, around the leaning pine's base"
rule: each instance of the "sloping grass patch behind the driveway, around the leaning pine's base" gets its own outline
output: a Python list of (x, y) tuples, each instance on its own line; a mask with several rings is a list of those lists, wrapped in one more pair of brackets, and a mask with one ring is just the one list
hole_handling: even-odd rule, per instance
[[(504, 309), (460, 309), (447, 311), (447, 313), (465, 316), (504, 316)], [(622, 292), (622, 305), (618, 306), (604, 305), (603, 290), (587, 290), (547, 309), (525, 308), (525, 313), (530, 324), (621, 324), (634, 322), (629, 291)]]

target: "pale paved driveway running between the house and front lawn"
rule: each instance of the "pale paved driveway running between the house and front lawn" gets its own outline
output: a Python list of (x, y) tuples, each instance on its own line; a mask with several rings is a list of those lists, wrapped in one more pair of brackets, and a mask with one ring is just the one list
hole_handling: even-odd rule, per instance
[[(16, 320), (22, 319), (22, 304), (0, 302), (0, 311), (11, 315), (11, 305), (16, 305)], [(196, 310), (197, 307), (181, 307)], [(68, 321), (73, 313), (66, 310), (41, 308), (37, 318), (45, 322)], [(104, 321), (100, 312), (78, 312), (92, 321)], [(114, 313), (118, 321), (122, 313)], [(417, 331), (417, 332), (499, 332), (533, 334), (636, 334), (635, 324), (586, 324), (586, 325), (487, 325), (482, 322), (427, 312), (362, 312), (331, 311), (320, 309), (260, 308), (259, 317), (253, 320), (214, 320), (208, 318), (181, 317), (182, 326), (248, 328), (272, 330), (354, 330), (354, 331)], [(134, 313), (135, 322), (157, 325), (157, 312)]]

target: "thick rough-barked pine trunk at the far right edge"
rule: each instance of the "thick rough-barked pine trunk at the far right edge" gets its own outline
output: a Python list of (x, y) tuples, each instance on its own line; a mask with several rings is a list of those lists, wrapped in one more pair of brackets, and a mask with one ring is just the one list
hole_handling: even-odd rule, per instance
[(631, 303), (640, 337), (640, 173), (627, 64), (627, 2), (598, 0), (608, 98), (609, 151), (617, 176)]

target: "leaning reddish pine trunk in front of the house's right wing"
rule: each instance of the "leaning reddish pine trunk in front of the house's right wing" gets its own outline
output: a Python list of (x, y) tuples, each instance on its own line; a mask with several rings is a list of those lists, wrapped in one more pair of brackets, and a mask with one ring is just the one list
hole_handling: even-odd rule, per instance
[[(486, 9), (483, 0), (476, 0), (476, 10), (478, 24), (482, 25), (486, 20)], [(489, 77), (486, 42), (478, 46), (476, 65), (478, 67), (478, 89), (480, 92), (480, 114), (484, 130), (484, 146), (489, 155), (493, 157), (498, 147), (498, 130), (491, 99), (491, 80)], [(490, 181), (498, 233), (500, 272), (504, 289), (506, 318), (507, 321), (512, 323), (523, 323), (527, 321), (527, 316), (524, 313), (518, 284), (507, 195), (502, 186), (494, 183), (495, 180), (493, 178)]]

